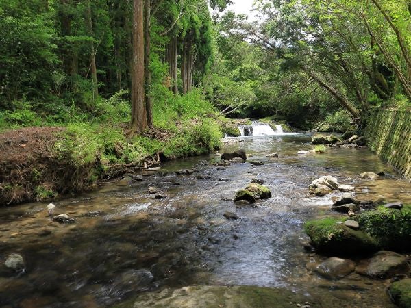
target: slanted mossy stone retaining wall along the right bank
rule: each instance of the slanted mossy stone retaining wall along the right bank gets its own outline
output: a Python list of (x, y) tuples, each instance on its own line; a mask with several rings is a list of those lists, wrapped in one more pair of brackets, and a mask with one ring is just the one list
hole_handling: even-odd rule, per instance
[(374, 110), (365, 136), (372, 151), (411, 179), (411, 111)]

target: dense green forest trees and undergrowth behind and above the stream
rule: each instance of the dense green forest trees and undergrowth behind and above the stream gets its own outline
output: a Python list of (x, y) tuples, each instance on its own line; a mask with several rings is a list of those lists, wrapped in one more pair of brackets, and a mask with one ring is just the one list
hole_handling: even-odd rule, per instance
[(229, 4), (1, 1), (0, 130), (66, 127), (53, 155), (94, 181), (216, 149), (223, 116), (346, 129), (411, 106), (410, 1), (258, 0), (258, 21)]

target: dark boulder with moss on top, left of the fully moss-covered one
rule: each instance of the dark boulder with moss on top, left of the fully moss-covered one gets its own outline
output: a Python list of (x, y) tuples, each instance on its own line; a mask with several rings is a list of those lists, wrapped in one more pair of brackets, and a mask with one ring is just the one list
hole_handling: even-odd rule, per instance
[(377, 251), (377, 242), (369, 234), (337, 222), (332, 218), (307, 222), (306, 233), (318, 251), (336, 255)]

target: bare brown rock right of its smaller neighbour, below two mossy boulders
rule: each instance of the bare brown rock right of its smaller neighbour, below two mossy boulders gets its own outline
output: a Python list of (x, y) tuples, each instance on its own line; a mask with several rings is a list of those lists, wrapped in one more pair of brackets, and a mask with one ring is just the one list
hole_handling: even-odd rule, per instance
[(379, 251), (371, 259), (360, 261), (356, 272), (374, 279), (388, 279), (397, 274), (410, 273), (410, 265), (408, 259), (399, 253)]

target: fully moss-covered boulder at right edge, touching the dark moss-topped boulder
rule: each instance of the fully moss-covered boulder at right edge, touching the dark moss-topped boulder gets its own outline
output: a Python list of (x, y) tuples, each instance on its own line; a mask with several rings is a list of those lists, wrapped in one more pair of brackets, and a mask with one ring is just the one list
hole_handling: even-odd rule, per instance
[(379, 207), (376, 211), (366, 211), (353, 220), (384, 249), (403, 251), (411, 246), (411, 205), (405, 205), (400, 211)]

